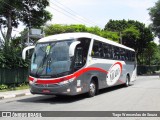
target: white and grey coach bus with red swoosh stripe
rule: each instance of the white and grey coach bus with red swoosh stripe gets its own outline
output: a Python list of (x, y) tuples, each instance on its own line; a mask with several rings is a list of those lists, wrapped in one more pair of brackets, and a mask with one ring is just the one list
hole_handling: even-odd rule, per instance
[(99, 89), (125, 84), (136, 78), (135, 51), (90, 33), (64, 33), (40, 39), (31, 59), (32, 94), (93, 97)]

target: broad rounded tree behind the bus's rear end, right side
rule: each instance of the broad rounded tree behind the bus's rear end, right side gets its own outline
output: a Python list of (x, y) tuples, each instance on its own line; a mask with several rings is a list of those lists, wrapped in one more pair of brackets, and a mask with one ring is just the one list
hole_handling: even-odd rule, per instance
[(104, 30), (118, 32), (122, 43), (136, 50), (138, 64), (143, 64), (144, 50), (153, 41), (153, 34), (145, 24), (134, 20), (110, 20)]

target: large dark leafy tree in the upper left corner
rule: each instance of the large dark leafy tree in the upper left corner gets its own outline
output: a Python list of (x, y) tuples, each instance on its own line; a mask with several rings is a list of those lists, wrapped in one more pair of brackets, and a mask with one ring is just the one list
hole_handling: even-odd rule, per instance
[[(39, 27), (51, 19), (51, 14), (45, 10), (48, 0), (0, 0), (0, 29), (8, 44), (12, 29), (20, 22), (27, 27)], [(2, 32), (7, 28), (6, 35)]]

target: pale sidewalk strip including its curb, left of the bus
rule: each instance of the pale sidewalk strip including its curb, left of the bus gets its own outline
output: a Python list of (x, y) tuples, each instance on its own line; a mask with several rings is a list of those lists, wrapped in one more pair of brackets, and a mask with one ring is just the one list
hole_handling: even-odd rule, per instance
[(6, 98), (20, 97), (25, 95), (31, 95), (29, 89), (0, 92), (0, 100), (6, 99)]

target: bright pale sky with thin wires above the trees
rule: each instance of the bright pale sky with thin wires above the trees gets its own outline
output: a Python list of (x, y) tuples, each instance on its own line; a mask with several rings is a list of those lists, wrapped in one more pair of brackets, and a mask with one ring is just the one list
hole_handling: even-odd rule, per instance
[[(151, 23), (148, 8), (158, 0), (50, 0), (48, 24), (85, 24), (104, 28), (110, 19)], [(21, 26), (19, 30), (23, 29)], [(16, 34), (16, 31), (14, 31)]]

